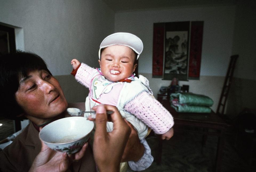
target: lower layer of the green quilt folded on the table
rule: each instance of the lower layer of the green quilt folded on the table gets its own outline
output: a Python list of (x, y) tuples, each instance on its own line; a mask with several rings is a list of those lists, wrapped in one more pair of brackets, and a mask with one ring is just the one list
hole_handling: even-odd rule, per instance
[(189, 113), (211, 113), (211, 108), (206, 106), (189, 106), (186, 104), (172, 104), (171, 107), (177, 112), (189, 112)]

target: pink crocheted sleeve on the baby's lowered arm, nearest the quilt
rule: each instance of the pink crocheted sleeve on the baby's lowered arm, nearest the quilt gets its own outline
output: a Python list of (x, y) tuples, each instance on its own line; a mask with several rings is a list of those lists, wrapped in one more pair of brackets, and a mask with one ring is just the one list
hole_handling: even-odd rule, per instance
[(166, 133), (174, 125), (170, 112), (145, 91), (125, 104), (124, 109), (141, 119), (156, 134)]

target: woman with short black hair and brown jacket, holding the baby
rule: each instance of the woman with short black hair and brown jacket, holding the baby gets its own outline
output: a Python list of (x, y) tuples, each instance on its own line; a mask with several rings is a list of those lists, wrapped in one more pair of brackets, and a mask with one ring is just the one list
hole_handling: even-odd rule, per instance
[[(59, 157), (60, 153), (51, 150), (50, 153), (43, 154), (46, 152), (45, 150), (49, 149), (42, 145), (38, 132), (39, 127), (64, 118), (68, 103), (59, 82), (51, 75), (42, 58), (26, 52), (2, 56), (0, 95), (0, 113), (2, 116), (9, 119), (30, 120), (30, 124), (24, 131), (0, 153), (1, 170), (29, 171), (32, 167), (31, 170), (33, 171), (34, 167), (38, 165), (37, 162), (45, 163), (45, 161)], [(144, 147), (139, 144), (137, 132), (133, 132), (134, 129), (131, 129), (130, 144), (128, 142), (127, 145), (135, 146), (126, 146), (124, 152), (128, 153), (123, 155), (123, 161), (138, 161), (144, 153)], [(45, 158), (45, 155), (48, 157)], [(72, 156), (63, 154), (61, 161), (63, 163), (59, 163), (59, 169), (62, 170), (96, 170), (91, 147), (87, 144), (79, 153)], [(56, 163), (46, 163), (45, 165), (49, 165), (50, 169), (51, 165), (57, 166)]]

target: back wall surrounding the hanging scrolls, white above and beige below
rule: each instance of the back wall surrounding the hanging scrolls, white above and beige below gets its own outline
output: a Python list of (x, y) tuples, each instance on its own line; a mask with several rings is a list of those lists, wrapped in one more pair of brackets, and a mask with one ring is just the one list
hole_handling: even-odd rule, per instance
[(118, 12), (115, 14), (115, 32), (131, 32), (142, 39), (144, 49), (139, 57), (138, 72), (149, 79), (156, 97), (160, 87), (170, 85), (170, 81), (151, 76), (153, 23), (176, 21), (204, 21), (201, 78), (180, 81), (179, 85), (189, 85), (191, 92), (212, 98), (212, 108), (216, 111), (232, 55), (235, 5)]

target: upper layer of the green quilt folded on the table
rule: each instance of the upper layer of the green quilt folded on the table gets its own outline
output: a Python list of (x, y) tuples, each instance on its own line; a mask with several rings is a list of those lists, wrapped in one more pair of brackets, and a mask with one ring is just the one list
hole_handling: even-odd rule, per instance
[(170, 100), (178, 99), (179, 104), (193, 105), (193, 106), (207, 106), (213, 105), (213, 100), (205, 95), (193, 93), (173, 93), (170, 95)]

